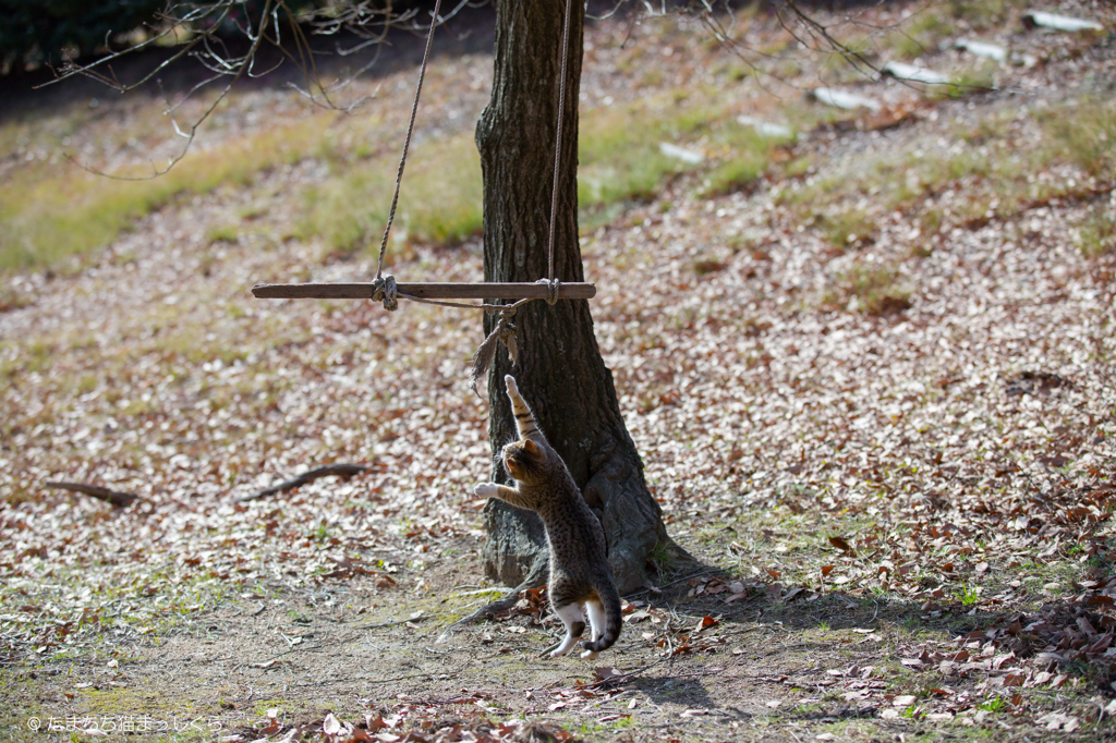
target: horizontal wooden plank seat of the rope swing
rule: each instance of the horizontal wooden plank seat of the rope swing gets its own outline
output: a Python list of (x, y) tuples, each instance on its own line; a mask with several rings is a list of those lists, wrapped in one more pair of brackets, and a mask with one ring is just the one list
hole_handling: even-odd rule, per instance
[[(252, 296), (261, 299), (371, 299), (374, 283), (258, 283)], [(421, 299), (546, 299), (545, 283), (397, 283), (401, 295)], [(591, 283), (560, 283), (559, 299), (591, 299)]]

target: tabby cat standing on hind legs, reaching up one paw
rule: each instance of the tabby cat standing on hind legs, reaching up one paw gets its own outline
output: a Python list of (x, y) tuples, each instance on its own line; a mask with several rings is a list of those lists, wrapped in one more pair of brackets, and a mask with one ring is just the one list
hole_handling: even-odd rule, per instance
[(566, 655), (577, 645), (588, 616), (593, 639), (581, 643), (581, 657), (596, 658), (616, 641), (623, 624), (620, 596), (605, 554), (605, 534), (566, 464), (539, 431), (514, 377), (503, 379), (519, 441), (504, 446), (501, 457), (516, 488), (487, 482), (473, 492), (530, 509), (542, 518), (550, 550), (550, 606), (566, 625), (566, 637), (550, 656)]

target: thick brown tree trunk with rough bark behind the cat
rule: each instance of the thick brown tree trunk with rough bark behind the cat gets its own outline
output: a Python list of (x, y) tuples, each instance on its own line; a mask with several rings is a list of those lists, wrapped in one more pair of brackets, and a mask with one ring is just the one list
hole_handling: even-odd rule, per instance
[[(585, 8), (578, 0), (570, 1), (554, 263), (559, 280), (583, 281), (577, 109)], [(484, 280), (536, 281), (547, 277), (565, 6), (560, 0), (497, 0), (496, 6), (492, 99), (477, 126), (484, 175)], [(485, 335), (492, 322), (485, 318)], [(519, 309), (513, 322), (518, 363), (512, 365), (501, 348), (489, 376), (493, 480), (509, 481), (496, 454), (517, 438), (503, 385), (503, 375), (510, 373), (547, 440), (600, 518), (620, 592), (638, 589), (651, 582), (651, 552), (671, 542), (658, 504), (647, 491), (643, 462), (624, 426), (613, 376), (593, 332), (589, 303), (533, 301)], [(535, 513), (493, 499), (484, 506), (484, 525), (490, 578), (509, 586), (546, 582), (546, 537)]]

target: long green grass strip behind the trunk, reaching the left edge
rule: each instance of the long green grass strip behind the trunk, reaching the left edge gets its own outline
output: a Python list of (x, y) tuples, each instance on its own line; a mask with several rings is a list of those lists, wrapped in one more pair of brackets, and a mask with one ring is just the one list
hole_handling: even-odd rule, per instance
[[(310, 115), (297, 124), (191, 153), (169, 173), (144, 181), (114, 180), (37, 161), (0, 187), (0, 271), (51, 266), (88, 253), (181, 194), (248, 184), (261, 171), (308, 157), (324, 160), (333, 172), (305, 191), (295, 237), (320, 238), (331, 253), (375, 248), (391, 206), (395, 149), (365, 147), (382, 127), (369, 122), (341, 122), (344, 128), (335, 126), (331, 136), (323, 136), (325, 116)], [(7, 139), (16, 136), (15, 129), (0, 134)], [(586, 112), (578, 172), (583, 219), (589, 229), (610, 222), (618, 216), (617, 205), (651, 199), (666, 178), (680, 174), (703, 174), (699, 193), (704, 197), (747, 186), (767, 171), (773, 151), (792, 138), (761, 136), (740, 124), (734, 109), (712, 90), (677, 89)], [(664, 143), (700, 151), (704, 161), (690, 163), (666, 154)], [(148, 172), (140, 168), (122, 175)], [(461, 133), (425, 143), (407, 164), (395, 239), (464, 240), (482, 229), (482, 203), (480, 158), (472, 136)], [(253, 205), (242, 210), (241, 219), (251, 221), (261, 213)], [(231, 243), (241, 232), (241, 224), (221, 224), (206, 239)]]

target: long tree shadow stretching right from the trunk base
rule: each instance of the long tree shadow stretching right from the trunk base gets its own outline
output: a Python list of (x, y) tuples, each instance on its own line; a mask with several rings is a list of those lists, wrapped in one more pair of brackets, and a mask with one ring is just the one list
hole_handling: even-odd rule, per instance
[[(914, 674), (930, 673), (927, 678), (945, 677), (954, 684), (983, 684), (990, 689), (1024, 683), (1041, 686), (1050, 681), (1058, 683), (1061, 675), (1076, 679), (1075, 684), (1083, 684), (1091, 693), (1106, 697), (1116, 693), (1112, 686), (1116, 682), (1116, 652), (1109, 653), (1116, 647), (1116, 606), (1104, 592), (1103, 581), (1084, 577), (1070, 580), (1072, 596), (1007, 602), (995, 598), (971, 605), (944, 592), (934, 596), (931, 590), (905, 597), (883, 591), (822, 592), (790, 587), (777, 595), (770, 586), (766, 590), (752, 586), (748, 596), (727, 602), (724, 590), (712, 595), (698, 591), (700, 581), (706, 581), (708, 590), (716, 581), (721, 582), (715, 589), (740, 579), (715, 567), (702, 567), (702, 571), (683, 576), (672, 591), (660, 597), (644, 594), (629, 600), (650, 598), (672, 615), (714, 618), (723, 634), (740, 634), (744, 646), (749, 644), (745, 633), (758, 628), (786, 640), (769, 655), (798, 650), (815, 666), (824, 659), (838, 666), (844, 658), (847, 666), (854, 667), (857, 662), (850, 658), (875, 650), (887, 663)], [(814, 637), (818, 631), (824, 635)], [(761, 653), (753, 660), (763, 657)], [(810, 670), (840, 677), (843, 668)], [(856, 706), (849, 710), (855, 712)]]

